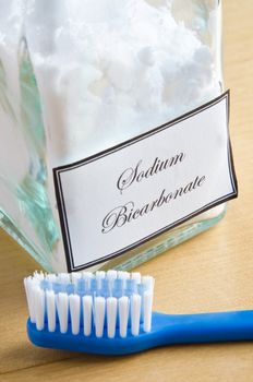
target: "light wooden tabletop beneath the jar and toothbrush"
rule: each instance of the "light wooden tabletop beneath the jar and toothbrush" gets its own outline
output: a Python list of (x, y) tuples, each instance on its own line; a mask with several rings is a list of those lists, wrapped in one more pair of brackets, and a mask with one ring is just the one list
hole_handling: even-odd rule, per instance
[[(240, 198), (215, 228), (140, 266), (156, 277), (155, 308), (253, 308), (253, 1), (224, 1), (226, 84)], [(33, 347), (23, 277), (37, 264), (0, 232), (0, 381), (253, 381), (253, 343), (178, 346), (124, 358)]]

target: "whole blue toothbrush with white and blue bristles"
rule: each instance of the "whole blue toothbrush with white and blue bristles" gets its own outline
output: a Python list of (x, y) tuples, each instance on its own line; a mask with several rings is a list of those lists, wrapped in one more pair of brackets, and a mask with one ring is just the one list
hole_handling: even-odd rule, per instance
[(253, 310), (152, 311), (155, 280), (128, 272), (44, 274), (24, 279), (27, 333), (37, 346), (126, 355), (157, 346), (253, 339)]

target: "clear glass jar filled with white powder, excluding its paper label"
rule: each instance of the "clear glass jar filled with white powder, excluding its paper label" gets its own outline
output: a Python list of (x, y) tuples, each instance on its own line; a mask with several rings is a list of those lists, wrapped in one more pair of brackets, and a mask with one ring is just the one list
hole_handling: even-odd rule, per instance
[[(67, 270), (52, 169), (219, 96), (220, 13), (218, 0), (1, 1), (0, 224), (45, 270)], [(134, 267), (224, 214), (95, 267)]]

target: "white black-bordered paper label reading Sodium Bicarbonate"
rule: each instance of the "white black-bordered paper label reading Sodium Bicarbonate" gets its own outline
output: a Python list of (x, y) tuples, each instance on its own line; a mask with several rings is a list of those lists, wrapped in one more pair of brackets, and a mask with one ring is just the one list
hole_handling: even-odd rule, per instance
[(237, 196), (229, 93), (177, 120), (53, 169), (69, 271), (120, 255)]

